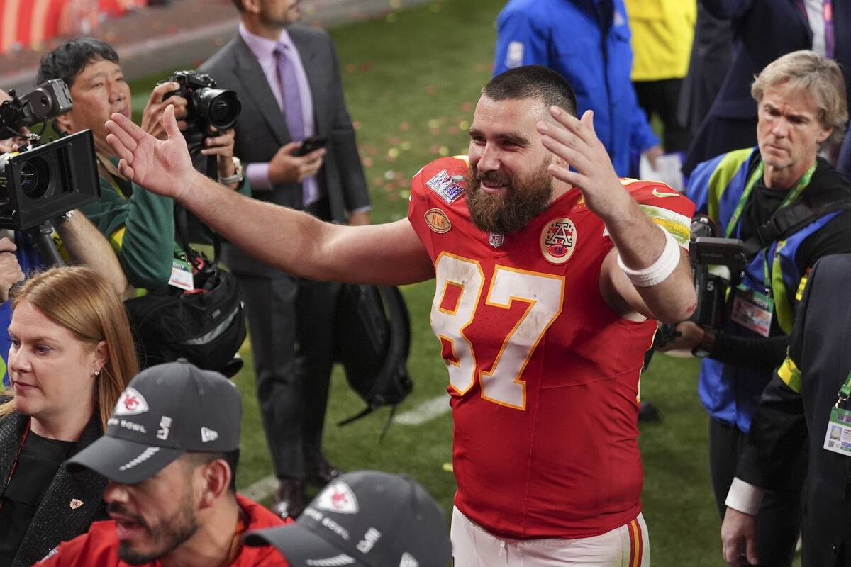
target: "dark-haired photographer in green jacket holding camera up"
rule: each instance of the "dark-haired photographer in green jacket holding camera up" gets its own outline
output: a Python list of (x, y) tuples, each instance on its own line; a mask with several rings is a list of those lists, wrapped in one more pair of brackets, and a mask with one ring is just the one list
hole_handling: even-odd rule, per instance
[[(100, 201), (82, 207), (83, 213), (117, 251), (131, 285), (149, 289), (167, 286), (180, 275), (173, 267), (173, 259), (181, 254), (174, 242), (174, 203), (123, 179), (117, 171), (117, 159), (106, 144), (104, 122), (112, 112), (130, 116), (132, 110), (130, 88), (117, 53), (90, 37), (67, 41), (45, 54), (38, 69), (38, 82), (56, 78), (67, 83), (74, 101), (71, 111), (56, 118), (57, 129), (77, 133), (88, 128), (94, 133)], [(161, 117), (168, 105), (174, 105), (181, 119), (186, 117), (186, 99), (168, 96), (178, 88), (175, 82), (163, 82), (153, 89), (142, 113), (141, 126), (146, 132), (165, 137)], [(186, 128), (186, 122), (181, 122), (181, 128)], [(217, 157), (220, 179), (237, 179), (232, 131), (206, 139), (201, 154)]]

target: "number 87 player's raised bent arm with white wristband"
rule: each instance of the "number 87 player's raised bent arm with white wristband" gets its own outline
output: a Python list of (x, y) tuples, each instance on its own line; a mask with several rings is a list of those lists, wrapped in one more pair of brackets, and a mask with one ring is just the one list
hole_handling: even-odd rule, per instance
[[(538, 131), (544, 134), (541, 141), (561, 158), (559, 163), (550, 165), (550, 174), (582, 190), (588, 208), (603, 218), (626, 269), (653, 272), (665, 259), (666, 246), (671, 246), (666, 239), (671, 237), (666, 237), (659, 225), (643, 213), (620, 183), (603, 143), (594, 132), (593, 112), (585, 111), (581, 120), (555, 106), (550, 112), (563, 127), (550, 121), (538, 123)], [(615, 262), (613, 253), (603, 263), (601, 290), (613, 290), (629, 309), (647, 317), (665, 322), (688, 319), (696, 303), (691, 268), (685, 253), (679, 247), (676, 252), (673, 269), (665, 270), (665, 279), (643, 286), (633, 285)]]

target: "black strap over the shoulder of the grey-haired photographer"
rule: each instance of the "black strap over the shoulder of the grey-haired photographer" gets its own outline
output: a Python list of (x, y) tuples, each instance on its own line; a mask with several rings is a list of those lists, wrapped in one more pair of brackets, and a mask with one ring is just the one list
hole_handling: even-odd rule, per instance
[(811, 198), (798, 199), (775, 211), (757, 227), (754, 235), (745, 241), (745, 258), (750, 262), (772, 242), (788, 238), (825, 214), (846, 210), (851, 210), (851, 199), (848, 198), (848, 189), (842, 186), (820, 191)]

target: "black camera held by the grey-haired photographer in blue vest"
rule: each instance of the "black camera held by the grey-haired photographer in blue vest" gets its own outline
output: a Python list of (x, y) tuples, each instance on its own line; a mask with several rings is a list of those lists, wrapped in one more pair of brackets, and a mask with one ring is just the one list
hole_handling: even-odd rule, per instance
[[(713, 330), (722, 327), (728, 290), (739, 285), (742, 269), (747, 264), (745, 243), (736, 238), (719, 238), (719, 233), (718, 225), (705, 214), (692, 219), (688, 256), (694, 274), (697, 306), (688, 320)], [(729, 276), (718, 274), (717, 266), (725, 266)], [(676, 324), (660, 325), (654, 346), (671, 342), (677, 337), (676, 328)]]

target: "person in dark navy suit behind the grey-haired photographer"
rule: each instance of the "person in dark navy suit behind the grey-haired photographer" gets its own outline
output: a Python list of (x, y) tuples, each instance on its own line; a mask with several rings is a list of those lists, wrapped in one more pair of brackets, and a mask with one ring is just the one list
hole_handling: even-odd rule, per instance
[(851, 41), (845, 32), (851, 26), (851, 3), (847, 0), (832, 0), (832, 3), (700, 0), (700, 3), (716, 18), (730, 20), (734, 56), (721, 90), (688, 148), (683, 163), (686, 174), (700, 162), (757, 143), (757, 105), (751, 98), (751, 83), (753, 77), (780, 55), (813, 49), (842, 65), (846, 84), (851, 79)]

